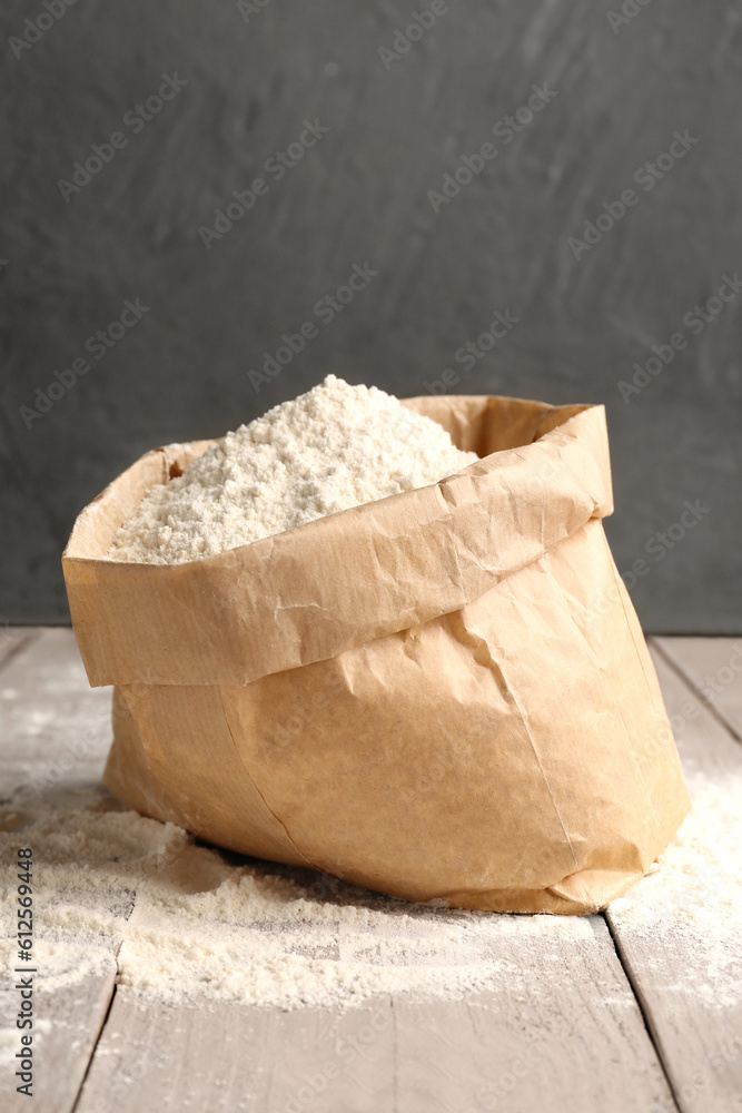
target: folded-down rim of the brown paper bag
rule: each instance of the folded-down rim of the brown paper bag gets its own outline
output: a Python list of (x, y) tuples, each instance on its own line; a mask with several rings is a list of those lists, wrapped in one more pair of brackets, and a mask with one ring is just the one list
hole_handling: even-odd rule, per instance
[[(246, 684), (326, 660), (458, 610), (612, 513), (603, 406), (495, 395), (404, 404), (485, 454), (438, 483), (204, 560), (107, 553), (145, 492), (215, 442), (156, 449), (109, 484), (79, 514), (62, 556), (90, 683)], [(526, 443), (501, 447), (505, 425)], [(478, 443), (471, 432), (461, 443), (461, 430), (476, 430)]]

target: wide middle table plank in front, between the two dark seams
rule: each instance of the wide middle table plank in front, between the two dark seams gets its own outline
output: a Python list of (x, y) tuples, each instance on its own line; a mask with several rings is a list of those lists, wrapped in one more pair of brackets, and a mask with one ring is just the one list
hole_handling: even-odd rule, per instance
[(78, 1113), (674, 1109), (603, 918), (504, 927), (503, 984), (467, 1001), (141, 1011), (119, 988)]

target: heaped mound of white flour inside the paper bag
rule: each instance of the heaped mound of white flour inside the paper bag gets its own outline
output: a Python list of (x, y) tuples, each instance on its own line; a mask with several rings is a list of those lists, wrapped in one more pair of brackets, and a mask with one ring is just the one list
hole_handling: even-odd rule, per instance
[(110, 555), (180, 564), (425, 486), (477, 459), (377, 387), (328, 375), (147, 492)]

